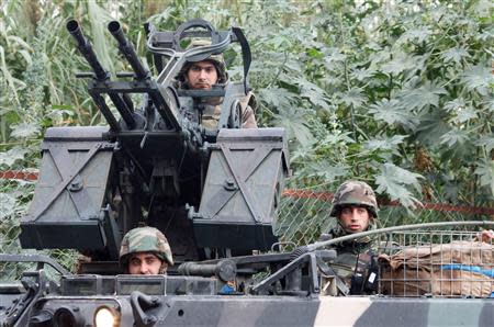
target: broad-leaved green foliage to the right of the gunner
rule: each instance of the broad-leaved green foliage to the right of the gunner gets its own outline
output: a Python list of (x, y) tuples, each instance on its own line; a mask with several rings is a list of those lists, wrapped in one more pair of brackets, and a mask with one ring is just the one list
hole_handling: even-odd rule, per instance
[[(294, 137), (292, 183), (334, 189), (356, 177), (409, 206), (423, 199), (422, 187), (433, 188), (441, 200), (449, 199), (451, 184), (465, 203), (475, 204), (479, 192), (483, 203), (492, 200), (486, 181), (492, 171), (483, 157), (490, 162), (493, 149), (486, 135), (492, 134), (493, 91), (487, 44), (494, 35), (492, 15), (479, 14), (481, 4), (474, 3), (325, 2), (292, 20), (282, 34), (295, 34), (287, 41), (293, 49), (278, 42), (283, 66), (272, 70), (272, 89), (284, 90), (278, 108), (270, 98), (265, 102), (265, 113), (276, 122), (293, 129), (293, 122), (279, 116), (296, 119), (317, 139), (307, 144)], [(317, 92), (300, 88), (305, 83), (316, 84)], [(283, 106), (280, 98), (291, 105)], [(308, 139), (306, 128), (301, 131)], [(348, 138), (328, 146), (328, 136), (344, 131), (351, 132)], [(416, 148), (427, 153), (427, 169), (416, 162)], [(472, 167), (478, 171), (473, 181)]]

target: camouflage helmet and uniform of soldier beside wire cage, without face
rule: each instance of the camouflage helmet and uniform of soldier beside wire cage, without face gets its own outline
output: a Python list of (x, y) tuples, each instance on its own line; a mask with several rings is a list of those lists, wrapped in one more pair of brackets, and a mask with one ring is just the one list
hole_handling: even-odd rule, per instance
[[(349, 235), (341, 226), (339, 216), (341, 210), (349, 205), (363, 206), (370, 215), (369, 227), (366, 230), (375, 229), (375, 218), (378, 218), (378, 202), (375, 194), (364, 182), (347, 181), (343, 183), (335, 193), (330, 216), (338, 218), (336, 227), (329, 230), (330, 238), (337, 238)], [(371, 253), (378, 248), (378, 243), (372, 237), (361, 237), (355, 240), (347, 240), (333, 245), (338, 257), (332, 262), (332, 267), (339, 278), (341, 278), (347, 286), (350, 287), (351, 279), (359, 266), (367, 266), (371, 260)]]

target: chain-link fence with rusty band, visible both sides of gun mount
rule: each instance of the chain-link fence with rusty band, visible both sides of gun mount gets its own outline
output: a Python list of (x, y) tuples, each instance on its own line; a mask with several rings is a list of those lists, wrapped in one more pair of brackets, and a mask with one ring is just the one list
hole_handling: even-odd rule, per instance
[[(37, 179), (36, 171), (0, 171), (0, 252), (18, 253), (20, 219), (27, 211), (27, 205), (34, 193)], [(284, 250), (306, 245), (318, 239), (322, 233), (335, 226), (336, 219), (329, 217), (333, 193), (327, 189), (288, 189), (278, 208), (278, 219), (274, 233), (281, 243), (287, 243)], [(480, 207), (456, 206), (444, 203), (423, 203), (422, 206), (409, 210), (397, 203), (380, 203), (379, 227), (390, 227), (405, 224), (428, 222), (461, 222), (494, 218), (494, 206), (485, 203)], [(24, 251), (25, 252), (25, 251)], [(55, 257), (65, 267), (72, 267), (74, 251), (44, 251)], [(2, 267), (0, 267), (2, 269)], [(19, 269), (10, 271), (15, 274)]]

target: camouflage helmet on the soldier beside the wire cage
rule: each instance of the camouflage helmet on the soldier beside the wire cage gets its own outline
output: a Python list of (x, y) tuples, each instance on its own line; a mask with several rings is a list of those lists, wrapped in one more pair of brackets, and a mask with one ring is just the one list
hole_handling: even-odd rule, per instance
[(333, 198), (330, 216), (337, 217), (341, 208), (346, 205), (363, 205), (371, 215), (378, 217), (378, 201), (375, 193), (369, 184), (361, 181), (346, 181), (343, 183)]

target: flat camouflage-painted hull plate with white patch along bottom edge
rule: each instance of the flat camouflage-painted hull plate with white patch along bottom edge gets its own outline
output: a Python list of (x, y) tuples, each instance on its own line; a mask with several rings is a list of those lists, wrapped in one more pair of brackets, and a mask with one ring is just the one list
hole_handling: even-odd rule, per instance
[[(157, 297), (162, 307), (154, 312), (156, 323), (134, 325), (132, 315), (120, 317), (120, 326), (493, 326), (491, 300), (438, 300), (380, 297), (294, 298), (288, 296)], [(67, 298), (70, 300), (70, 298)], [(92, 324), (102, 305), (130, 312), (128, 297), (74, 297), (85, 306), (81, 325)], [(45, 298), (37, 306), (49, 309), (61, 298)], [(65, 302), (66, 303), (66, 302)], [(82, 323), (83, 322), (83, 323)], [(82, 325), (86, 324), (86, 325)], [(33, 325), (36, 326), (36, 325)], [(43, 326), (43, 325), (40, 325)], [(55, 325), (57, 326), (57, 325)]]

